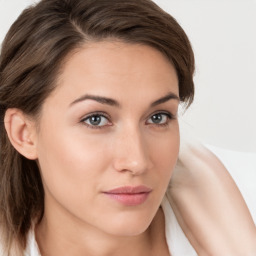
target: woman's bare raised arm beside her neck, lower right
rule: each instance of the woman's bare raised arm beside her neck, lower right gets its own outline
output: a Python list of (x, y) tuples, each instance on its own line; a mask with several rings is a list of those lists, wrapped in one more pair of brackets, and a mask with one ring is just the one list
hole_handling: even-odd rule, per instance
[(199, 255), (256, 254), (246, 203), (223, 163), (204, 146), (182, 145), (167, 195)]

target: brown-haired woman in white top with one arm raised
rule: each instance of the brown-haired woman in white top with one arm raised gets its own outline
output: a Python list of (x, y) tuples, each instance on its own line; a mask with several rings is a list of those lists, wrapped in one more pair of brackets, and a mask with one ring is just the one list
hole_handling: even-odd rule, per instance
[(224, 166), (194, 146), (177, 163), (193, 72), (149, 0), (25, 10), (0, 59), (2, 255), (255, 255)]

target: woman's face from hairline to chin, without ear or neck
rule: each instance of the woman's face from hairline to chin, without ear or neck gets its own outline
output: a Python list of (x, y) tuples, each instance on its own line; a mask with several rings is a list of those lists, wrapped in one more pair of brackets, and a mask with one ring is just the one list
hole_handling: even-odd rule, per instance
[(36, 137), (47, 218), (145, 231), (179, 150), (178, 79), (157, 50), (91, 43), (66, 61)]

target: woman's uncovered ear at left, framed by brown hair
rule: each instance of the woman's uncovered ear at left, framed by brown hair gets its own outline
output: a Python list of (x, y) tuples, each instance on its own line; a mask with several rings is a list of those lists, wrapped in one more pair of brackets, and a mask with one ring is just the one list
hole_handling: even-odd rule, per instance
[(4, 125), (13, 147), (24, 157), (37, 159), (35, 123), (17, 108), (7, 109)]

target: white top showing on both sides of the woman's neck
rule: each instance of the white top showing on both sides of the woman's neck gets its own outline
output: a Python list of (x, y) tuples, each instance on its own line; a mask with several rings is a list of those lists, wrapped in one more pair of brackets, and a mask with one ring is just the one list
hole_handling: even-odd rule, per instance
[[(196, 256), (196, 252), (183, 233), (174, 215), (171, 205), (165, 196), (162, 201), (162, 209), (165, 216), (165, 237), (172, 256)], [(24, 256), (40, 256), (35, 239), (34, 230), (28, 235), (28, 244)]]

